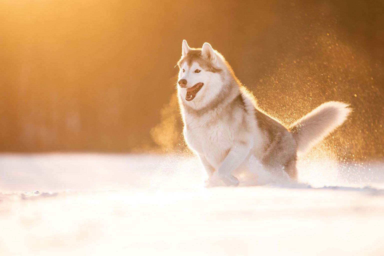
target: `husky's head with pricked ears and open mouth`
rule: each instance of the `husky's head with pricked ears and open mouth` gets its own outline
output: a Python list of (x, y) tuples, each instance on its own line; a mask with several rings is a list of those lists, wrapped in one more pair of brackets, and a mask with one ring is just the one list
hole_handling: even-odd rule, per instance
[(204, 107), (220, 94), (227, 64), (223, 56), (209, 43), (202, 48), (190, 48), (183, 40), (179, 65), (179, 96), (183, 104), (195, 109)]

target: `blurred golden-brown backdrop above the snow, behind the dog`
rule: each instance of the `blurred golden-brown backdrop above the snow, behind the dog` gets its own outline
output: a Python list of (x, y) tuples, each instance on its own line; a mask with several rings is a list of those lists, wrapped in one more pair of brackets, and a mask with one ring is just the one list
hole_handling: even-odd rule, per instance
[(350, 103), (329, 149), (381, 159), (383, 10), (381, 0), (1, 0), (0, 151), (184, 149), (174, 84), (186, 39), (211, 43), (286, 125), (324, 101)]

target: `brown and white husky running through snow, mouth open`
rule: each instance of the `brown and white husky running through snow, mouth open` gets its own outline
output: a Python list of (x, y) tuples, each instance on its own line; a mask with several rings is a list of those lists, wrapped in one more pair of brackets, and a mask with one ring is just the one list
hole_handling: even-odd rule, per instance
[(326, 102), (290, 127), (260, 111), (231, 66), (209, 43), (182, 43), (178, 81), (184, 138), (208, 176), (237, 186), (232, 175), (255, 157), (266, 170), (283, 169), (296, 179), (296, 159), (341, 125), (348, 104)]

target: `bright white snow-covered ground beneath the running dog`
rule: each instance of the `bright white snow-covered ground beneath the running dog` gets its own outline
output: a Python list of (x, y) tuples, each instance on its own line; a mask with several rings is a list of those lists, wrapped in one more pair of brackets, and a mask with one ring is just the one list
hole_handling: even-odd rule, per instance
[(0, 155), (0, 255), (384, 255), (384, 164), (299, 170), (205, 188), (185, 156)]

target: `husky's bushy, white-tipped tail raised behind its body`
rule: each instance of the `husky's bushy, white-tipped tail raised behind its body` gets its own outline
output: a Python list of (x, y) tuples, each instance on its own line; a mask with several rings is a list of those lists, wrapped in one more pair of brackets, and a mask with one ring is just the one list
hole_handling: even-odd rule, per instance
[(330, 101), (316, 107), (292, 124), (289, 129), (296, 139), (297, 154), (304, 155), (336, 127), (343, 124), (351, 111), (348, 104)]

